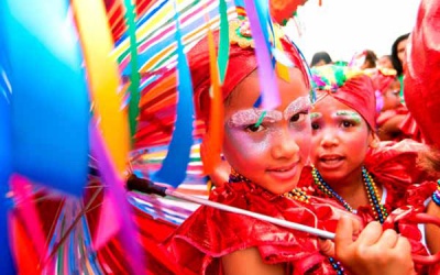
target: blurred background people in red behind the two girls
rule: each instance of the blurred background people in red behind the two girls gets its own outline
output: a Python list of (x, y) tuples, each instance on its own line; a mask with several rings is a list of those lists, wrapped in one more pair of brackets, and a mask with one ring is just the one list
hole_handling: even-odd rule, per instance
[[(391, 54), (377, 57), (374, 51), (365, 50), (353, 55), (349, 67), (369, 75), (376, 96), (376, 132), (381, 141), (413, 139), (422, 141), (417, 123), (405, 105), (404, 68), (409, 33), (398, 36), (391, 46)], [(327, 52), (312, 56), (310, 67), (334, 64)]]

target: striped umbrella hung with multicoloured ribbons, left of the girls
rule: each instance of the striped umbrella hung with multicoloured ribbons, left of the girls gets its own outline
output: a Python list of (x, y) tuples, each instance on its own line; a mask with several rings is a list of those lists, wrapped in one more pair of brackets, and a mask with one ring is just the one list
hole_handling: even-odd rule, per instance
[[(241, 8), (235, 9), (232, 1), (226, 0), (177, 0), (178, 9), (167, 0), (73, 0), (33, 3), (29, 8), (22, 2), (0, 3), (0, 35), (4, 37), (0, 47), (6, 50), (0, 53), (6, 53), (0, 56), (0, 195), (4, 195), (0, 201), (0, 222), (4, 224), (0, 240), (6, 244), (1, 248), (0, 266), (6, 274), (15, 273), (7, 245), (8, 240), (12, 242), (7, 231), (11, 226), (16, 232), (13, 244), (19, 250), (13, 255), (20, 257), (15, 258), (19, 272), (33, 273), (37, 266), (47, 273), (110, 273), (109, 266), (123, 271), (124, 264), (109, 264), (111, 256), (121, 256), (121, 262), (136, 266), (131, 273), (144, 273), (141, 241), (135, 238), (139, 232), (128, 213), (134, 209), (178, 224), (197, 206), (127, 194), (124, 175), (133, 168), (178, 186), (179, 191), (208, 196), (197, 147), (197, 138), (205, 129), (199, 121), (193, 121), (190, 76), (184, 53), (208, 28), (221, 28), (218, 53), (210, 45), (210, 74), (215, 79), (211, 106), (217, 106), (212, 108), (211, 124), (221, 124), (219, 92), (230, 45), (230, 30), (226, 26)], [(249, 36), (251, 30), (258, 33), (254, 46), (264, 62), (261, 103), (268, 109), (277, 106), (277, 92), (271, 87), (273, 50), (280, 47), (271, 44), (273, 28), (267, 28), (272, 24), (263, 2), (246, 1), (251, 20), (240, 26), (239, 34)], [(30, 46), (37, 51), (36, 55), (26, 51)], [(29, 81), (22, 81), (23, 75)], [(26, 143), (11, 141), (12, 135)], [(215, 136), (210, 143), (217, 158), (212, 158), (212, 167), (220, 160), (221, 132)], [(35, 138), (38, 139), (28, 143)], [(193, 151), (196, 147), (197, 152), (190, 154), (193, 143)], [(12, 156), (10, 144), (13, 150), (22, 146), (20, 153), (41, 154), (40, 158)], [(130, 150), (132, 156), (142, 152), (141, 160), (146, 165), (140, 167), (134, 158), (130, 165)], [(96, 187), (85, 189), (90, 160), (97, 164), (97, 169), (90, 172), (100, 175), (99, 188), (103, 189), (91, 196), (88, 188)], [(21, 165), (25, 161), (28, 166)], [(35, 168), (42, 164), (53, 170), (45, 170), (46, 175), (40, 177), (31, 175), (42, 174)], [(15, 167), (20, 175), (13, 177), (11, 193), (8, 180)], [(53, 172), (58, 174), (54, 176)], [(86, 195), (79, 198), (82, 194)], [(44, 204), (34, 204), (36, 199)], [(47, 201), (55, 201), (55, 206)], [(8, 223), (13, 202), (20, 204), (14, 211), (19, 215)], [(41, 205), (50, 206), (51, 211)], [(52, 213), (54, 209), (56, 213)], [(98, 211), (100, 217), (89, 219), (90, 211)], [(23, 251), (23, 244), (31, 241), (33, 245)], [(118, 248), (111, 250), (109, 243), (117, 243)]]

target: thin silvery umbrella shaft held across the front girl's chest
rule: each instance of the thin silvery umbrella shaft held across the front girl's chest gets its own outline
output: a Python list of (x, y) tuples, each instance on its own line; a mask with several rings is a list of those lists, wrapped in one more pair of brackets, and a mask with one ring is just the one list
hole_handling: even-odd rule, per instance
[(209, 206), (209, 207), (212, 207), (212, 208), (216, 208), (216, 209), (220, 209), (220, 210), (223, 210), (223, 211), (228, 211), (228, 212), (249, 216), (249, 217), (252, 217), (252, 218), (255, 218), (255, 219), (258, 219), (258, 220), (268, 221), (271, 223), (274, 223), (274, 224), (277, 224), (277, 226), (280, 226), (280, 227), (284, 227), (284, 228), (295, 229), (295, 230), (298, 230), (298, 231), (302, 231), (302, 232), (307, 232), (307, 233), (310, 233), (310, 234), (314, 234), (314, 235), (318, 235), (318, 237), (323, 238), (323, 239), (330, 239), (330, 240), (334, 239), (334, 233), (331, 233), (329, 231), (324, 231), (324, 230), (321, 230), (321, 229), (307, 227), (307, 226), (304, 226), (304, 224), (300, 224), (300, 223), (296, 223), (296, 222), (292, 222), (292, 221), (276, 219), (276, 218), (273, 218), (273, 217), (270, 217), (270, 216), (266, 216), (266, 215), (255, 213), (255, 212), (243, 210), (243, 209), (240, 209), (240, 208), (237, 208), (237, 207), (231, 207), (231, 206), (227, 206), (227, 205), (223, 205), (223, 204), (215, 202), (215, 201), (211, 201), (211, 200), (207, 200), (207, 199), (201, 199), (201, 198), (197, 198), (197, 197), (194, 197), (194, 196), (184, 195), (184, 194), (180, 194), (180, 193), (177, 193), (177, 191), (173, 191), (173, 190), (169, 190), (169, 189), (167, 189), (165, 193), (166, 193), (167, 196), (170, 196), (170, 197), (179, 198), (179, 199), (183, 199), (183, 200), (196, 202), (196, 204), (204, 205), (204, 206)]

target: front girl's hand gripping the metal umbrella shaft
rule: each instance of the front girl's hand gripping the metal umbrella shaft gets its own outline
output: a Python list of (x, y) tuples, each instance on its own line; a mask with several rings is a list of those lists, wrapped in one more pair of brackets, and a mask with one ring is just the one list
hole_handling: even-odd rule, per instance
[(341, 217), (334, 244), (320, 241), (321, 252), (334, 256), (354, 274), (415, 274), (408, 240), (394, 230), (382, 231), (378, 222), (369, 223), (353, 241), (356, 223)]

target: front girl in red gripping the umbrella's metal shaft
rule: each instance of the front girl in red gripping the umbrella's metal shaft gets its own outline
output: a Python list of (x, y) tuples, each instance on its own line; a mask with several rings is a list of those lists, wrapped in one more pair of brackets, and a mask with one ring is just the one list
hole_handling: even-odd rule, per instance
[[(230, 33), (241, 33), (240, 28), (245, 24), (238, 25)], [(215, 34), (217, 44), (218, 32)], [(239, 46), (240, 43), (230, 46), (222, 85), (222, 153), (231, 173), (227, 183), (212, 190), (210, 200), (311, 227), (337, 229), (337, 253), (328, 242), (318, 242), (310, 234), (205, 206), (168, 238), (167, 251), (184, 274), (343, 274), (345, 263), (352, 274), (411, 274), (414, 265), (406, 238), (391, 230), (394, 241), (386, 243), (381, 238), (382, 228), (372, 223), (353, 241), (353, 233), (360, 231), (356, 219), (348, 218), (336, 202), (307, 196), (296, 188), (305, 180), (302, 170), (311, 145), (310, 87), (296, 47), (283, 37), (279, 42), (295, 66), (288, 68), (288, 79), (277, 76), (280, 105), (274, 110), (255, 107), (261, 87), (254, 50)], [(187, 57), (197, 116), (206, 122), (207, 142), (212, 131), (207, 38)], [(360, 248), (371, 252), (365, 254), (369, 256), (359, 254)], [(319, 249), (336, 257), (332, 262), (323, 261), (327, 256)], [(386, 265), (376, 261), (384, 255), (388, 260)]]

